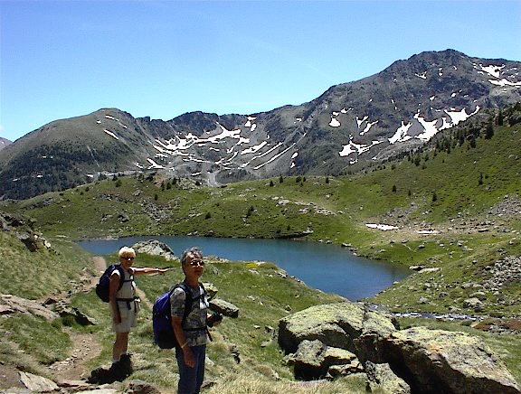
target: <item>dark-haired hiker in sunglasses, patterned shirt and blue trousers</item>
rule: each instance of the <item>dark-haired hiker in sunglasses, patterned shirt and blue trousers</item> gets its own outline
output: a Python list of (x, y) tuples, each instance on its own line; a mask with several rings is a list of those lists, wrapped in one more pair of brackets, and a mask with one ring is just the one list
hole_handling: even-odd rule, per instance
[[(204, 359), (206, 357), (207, 319), (209, 303), (204, 286), (199, 283), (203, 275), (203, 253), (197, 248), (186, 249), (181, 257), (181, 267), (185, 274), (182, 286), (175, 287), (170, 296), (172, 328), (179, 346), (175, 348), (175, 358), (179, 368), (178, 394), (197, 394), (204, 380)], [(187, 293), (192, 302), (191, 310), (185, 311)], [(211, 325), (218, 324), (219, 322)]]

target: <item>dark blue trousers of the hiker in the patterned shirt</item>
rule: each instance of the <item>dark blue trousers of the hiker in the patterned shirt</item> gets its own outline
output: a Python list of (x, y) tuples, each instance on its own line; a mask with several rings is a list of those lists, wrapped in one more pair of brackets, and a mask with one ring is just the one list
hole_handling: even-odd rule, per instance
[(204, 359), (206, 358), (206, 345), (192, 346), (195, 365), (190, 368), (185, 364), (183, 351), (175, 349), (175, 358), (179, 368), (179, 384), (177, 394), (199, 394), (199, 389), (204, 380)]

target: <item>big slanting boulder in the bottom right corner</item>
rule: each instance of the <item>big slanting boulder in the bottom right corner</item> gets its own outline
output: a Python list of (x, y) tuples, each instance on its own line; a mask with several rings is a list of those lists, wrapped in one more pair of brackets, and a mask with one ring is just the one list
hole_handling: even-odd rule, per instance
[(412, 392), (519, 394), (504, 363), (485, 342), (468, 333), (412, 327), (381, 338), (380, 359)]

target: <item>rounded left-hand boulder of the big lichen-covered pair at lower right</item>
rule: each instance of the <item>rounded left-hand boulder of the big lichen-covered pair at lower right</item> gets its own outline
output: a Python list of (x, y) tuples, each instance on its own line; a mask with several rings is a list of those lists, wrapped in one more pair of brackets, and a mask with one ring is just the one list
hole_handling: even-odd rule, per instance
[(279, 345), (296, 352), (304, 340), (318, 340), (327, 346), (355, 352), (354, 340), (361, 334), (385, 336), (396, 331), (389, 314), (368, 311), (364, 305), (344, 302), (314, 305), (279, 321)]

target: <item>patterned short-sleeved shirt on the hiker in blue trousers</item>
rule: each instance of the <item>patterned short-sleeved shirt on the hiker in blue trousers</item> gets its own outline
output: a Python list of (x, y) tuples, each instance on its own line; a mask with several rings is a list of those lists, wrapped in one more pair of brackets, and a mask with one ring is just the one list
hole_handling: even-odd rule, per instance
[[(203, 287), (192, 288), (185, 284), (185, 288), (192, 294), (192, 310), (186, 316), (183, 324), (186, 343), (188, 346), (204, 345), (207, 341), (206, 334), (206, 313), (210, 307), (208, 298), (204, 293)], [(185, 314), (185, 290), (176, 287), (170, 296), (170, 313), (174, 317), (183, 317)], [(192, 330), (200, 328), (200, 330)]]

